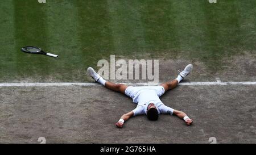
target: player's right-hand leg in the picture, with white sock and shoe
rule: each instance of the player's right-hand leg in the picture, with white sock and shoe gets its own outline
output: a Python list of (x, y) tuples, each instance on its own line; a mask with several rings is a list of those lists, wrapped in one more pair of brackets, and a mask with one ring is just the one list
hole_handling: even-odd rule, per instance
[(163, 84), (161, 84), (160, 86), (164, 87), (164, 90), (170, 90), (170, 89), (174, 89), (177, 85), (179, 85), (180, 81), (184, 80), (185, 77), (188, 76), (188, 74), (192, 71), (193, 69), (193, 65), (189, 64), (185, 67), (185, 69), (179, 74), (179, 76), (172, 80), (172, 81), (168, 81), (165, 82)]

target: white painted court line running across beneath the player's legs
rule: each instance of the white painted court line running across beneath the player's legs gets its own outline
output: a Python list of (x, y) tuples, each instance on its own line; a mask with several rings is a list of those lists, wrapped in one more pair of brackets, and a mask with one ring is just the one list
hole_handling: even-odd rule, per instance
[[(130, 86), (157, 86), (160, 83), (123, 83)], [(181, 82), (181, 86), (205, 86), (205, 85), (256, 85), (256, 81), (245, 82)], [(44, 87), (44, 86), (101, 86), (98, 83), (0, 83), (0, 87)]]

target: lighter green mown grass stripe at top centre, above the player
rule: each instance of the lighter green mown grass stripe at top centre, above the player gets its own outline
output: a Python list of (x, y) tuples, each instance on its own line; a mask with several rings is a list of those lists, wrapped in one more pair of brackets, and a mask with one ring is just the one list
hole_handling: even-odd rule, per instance
[(147, 48), (142, 22), (144, 5), (139, 1), (107, 2), (114, 52), (118, 55), (144, 55)]

